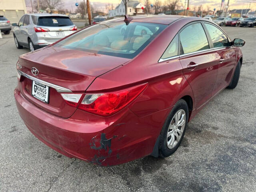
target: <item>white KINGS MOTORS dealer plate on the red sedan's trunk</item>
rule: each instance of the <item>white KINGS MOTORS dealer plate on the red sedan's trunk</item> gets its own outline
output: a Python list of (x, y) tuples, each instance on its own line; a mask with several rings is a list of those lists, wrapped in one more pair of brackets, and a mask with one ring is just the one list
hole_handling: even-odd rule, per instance
[(42, 83), (33, 81), (32, 96), (44, 103), (49, 103), (49, 87)]

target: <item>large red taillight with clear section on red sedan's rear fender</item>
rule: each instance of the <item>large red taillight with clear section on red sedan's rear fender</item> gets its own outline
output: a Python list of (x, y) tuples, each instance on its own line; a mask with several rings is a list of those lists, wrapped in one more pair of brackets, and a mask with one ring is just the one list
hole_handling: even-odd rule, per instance
[(148, 84), (134, 86), (118, 92), (85, 94), (78, 108), (101, 116), (110, 116), (132, 102)]

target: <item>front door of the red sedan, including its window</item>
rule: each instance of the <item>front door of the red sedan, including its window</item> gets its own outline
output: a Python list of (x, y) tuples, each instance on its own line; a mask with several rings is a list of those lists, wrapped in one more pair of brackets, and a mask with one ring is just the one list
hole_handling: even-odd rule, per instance
[(204, 25), (206, 26), (219, 58), (218, 74), (212, 91), (214, 95), (228, 86), (232, 78), (234, 66), (236, 65), (236, 52), (234, 48), (230, 46), (228, 37), (220, 28), (208, 22), (204, 22)]

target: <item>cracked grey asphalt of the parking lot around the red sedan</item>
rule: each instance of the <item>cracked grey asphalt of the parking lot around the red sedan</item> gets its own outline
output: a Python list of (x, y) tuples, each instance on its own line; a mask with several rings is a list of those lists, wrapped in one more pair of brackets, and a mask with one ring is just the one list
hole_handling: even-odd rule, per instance
[(256, 28), (223, 27), (246, 44), (240, 80), (188, 124), (178, 150), (100, 167), (67, 158), (40, 142), (14, 102), (16, 49), (12, 33), (0, 39), (0, 192), (256, 191)]

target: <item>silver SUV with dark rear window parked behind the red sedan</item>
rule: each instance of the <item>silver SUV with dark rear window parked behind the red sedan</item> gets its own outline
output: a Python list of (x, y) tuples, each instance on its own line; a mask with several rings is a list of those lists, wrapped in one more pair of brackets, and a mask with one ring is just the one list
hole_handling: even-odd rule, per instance
[(77, 30), (70, 18), (62, 14), (25, 14), (12, 26), (15, 26), (16, 47), (25, 46), (30, 51), (50, 45)]

